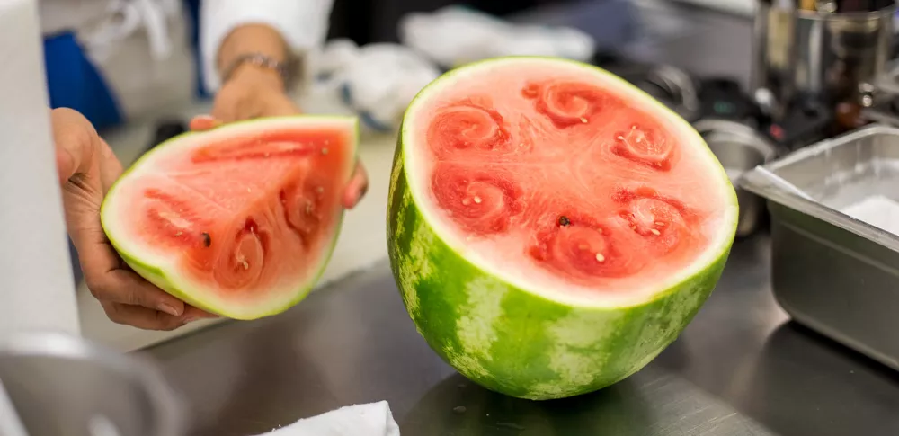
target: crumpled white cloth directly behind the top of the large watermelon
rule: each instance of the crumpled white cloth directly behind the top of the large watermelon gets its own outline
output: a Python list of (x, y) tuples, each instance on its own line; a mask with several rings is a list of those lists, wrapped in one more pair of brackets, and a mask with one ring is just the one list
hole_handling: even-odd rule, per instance
[(444, 67), (512, 55), (554, 56), (586, 61), (596, 41), (563, 26), (515, 24), (451, 5), (432, 13), (408, 13), (399, 23), (400, 41)]

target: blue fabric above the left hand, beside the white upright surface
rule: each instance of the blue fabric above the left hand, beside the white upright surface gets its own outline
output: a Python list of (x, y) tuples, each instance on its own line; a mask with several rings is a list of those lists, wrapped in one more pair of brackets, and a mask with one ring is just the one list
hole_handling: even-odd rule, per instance
[(44, 62), (50, 106), (81, 112), (97, 129), (122, 121), (122, 113), (109, 86), (85, 51), (67, 31), (44, 39)]

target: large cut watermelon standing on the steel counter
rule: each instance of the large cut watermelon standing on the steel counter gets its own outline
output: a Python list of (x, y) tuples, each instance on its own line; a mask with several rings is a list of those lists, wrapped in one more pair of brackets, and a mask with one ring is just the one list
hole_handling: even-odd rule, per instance
[(610, 73), (494, 58), (405, 113), (391, 268), (420, 334), (509, 396), (609, 386), (681, 333), (715, 287), (737, 201), (699, 134)]

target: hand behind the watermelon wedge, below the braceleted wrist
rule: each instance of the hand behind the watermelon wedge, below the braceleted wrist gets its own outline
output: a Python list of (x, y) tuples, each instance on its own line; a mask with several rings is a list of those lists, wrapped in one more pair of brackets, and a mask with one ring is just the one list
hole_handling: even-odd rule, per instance
[[(218, 91), (211, 116), (191, 120), (191, 130), (207, 130), (221, 123), (263, 117), (296, 115), (300, 109), (284, 92), (275, 72), (247, 65), (236, 70)], [(361, 162), (356, 162), (352, 179), (343, 191), (343, 207), (352, 209), (369, 189), (369, 177)]]

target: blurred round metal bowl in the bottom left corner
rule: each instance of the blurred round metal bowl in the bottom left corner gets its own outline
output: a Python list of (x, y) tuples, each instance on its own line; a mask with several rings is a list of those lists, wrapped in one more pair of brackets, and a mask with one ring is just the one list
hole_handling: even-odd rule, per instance
[(0, 380), (30, 436), (182, 436), (182, 406), (147, 362), (62, 334), (0, 343)]

